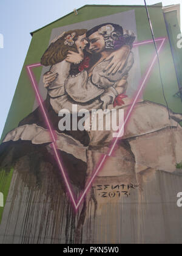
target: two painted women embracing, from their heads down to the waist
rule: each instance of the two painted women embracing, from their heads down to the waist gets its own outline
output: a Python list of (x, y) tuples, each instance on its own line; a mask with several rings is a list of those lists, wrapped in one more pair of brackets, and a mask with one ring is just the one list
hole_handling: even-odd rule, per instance
[[(44, 83), (53, 109), (56, 113), (62, 108), (71, 112), (72, 104), (77, 104), (78, 110), (84, 107), (90, 111), (121, 103), (115, 98), (119, 94), (122, 96), (118, 99), (126, 97), (135, 35), (116, 24), (96, 26), (78, 38), (76, 32), (62, 34), (41, 59), (42, 65), (52, 65), (44, 75)], [(67, 56), (65, 48), (72, 48)]]

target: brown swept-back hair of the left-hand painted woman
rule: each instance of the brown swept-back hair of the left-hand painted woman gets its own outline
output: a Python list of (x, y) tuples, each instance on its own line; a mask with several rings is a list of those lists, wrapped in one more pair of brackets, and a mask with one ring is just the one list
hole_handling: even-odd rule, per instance
[[(49, 48), (44, 52), (44, 55), (41, 58), (41, 64), (44, 66), (55, 65), (66, 59), (68, 51), (78, 52), (75, 41), (79, 36), (86, 34), (86, 32), (87, 29), (75, 29), (62, 34), (62, 37), (58, 38), (56, 41), (53, 41)], [(65, 44), (66, 37), (68, 35), (72, 35), (73, 33), (76, 34), (73, 38), (74, 43), (72, 46), (69, 46), (69, 44)]]

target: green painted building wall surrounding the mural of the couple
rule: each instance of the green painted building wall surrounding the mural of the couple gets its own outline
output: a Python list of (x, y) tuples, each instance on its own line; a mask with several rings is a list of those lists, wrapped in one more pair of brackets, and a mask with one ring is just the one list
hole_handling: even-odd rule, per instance
[[(127, 10), (135, 9), (136, 15), (136, 28), (138, 33), (138, 40), (152, 39), (150, 33), (150, 27), (147, 20), (146, 9), (143, 6), (116, 6), (116, 5), (86, 5), (85, 7), (78, 10), (78, 15), (70, 13), (69, 15), (55, 21), (42, 29), (37, 30), (33, 33), (32, 41), (30, 44), (27, 57), (25, 59), (24, 66), (22, 68), (21, 75), (19, 77), (18, 85), (13, 98), (10, 112), (8, 113), (7, 121), (5, 123), (4, 131), (2, 133), (1, 141), (5, 134), (10, 130), (18, 126), (25, 116), (32, 112), (33, 104), (35, 101), (35, 94), (32, 90), (30, 80), (27, 76), (25, 66), (40, 62), (41, 56), (45, 49), (49, 45), (50, 35), (52, 29), (56, 27), (66, 26), (73, 23), (79, 23), (81, 21), (92, 20), (101, 16), (112, 15), (115, 13), (126, 12)], [(166, 25), (164, 22), (163, 11), (161, 4), (149, 7), (150, 18), (152, 20), (153, 30), (155, 37), (167, 37)], [(140, 60), (141, 60), (141, 73), (144, 74), (146, 65), (149, 65), (149, 60), (152, 59), (155, 54), (153, 44), (140, 46)], [(164, 82), (164, 90), (166, 93), (169, 107), (174, 112), (182, 113), (182, 102), (179, 98), (174, 98), (174, 94), (178, 91), (177, 77), (175, 74), (174, 62), (170, 51), (169, 42), (166, 44), (163, 52), (160, 55), (161, 60), (161, 71)], [(182, 60), (181, 60), (182, 62)], [(41, 76), (42, 68), (35, 69), (35, 75), (37, 80)], [(152, 71), (152, 76), (149, 79), (146, 90), (144, 91), (144, 99), (148, 99), (153, 102), (164, 103), (162, 87), (160, 82), (160, 76), (158, 71), (158, 65)], [(1, 176), (3, 179), (1, 179)], [(7, 192), (10, 186), (10, 179), (12, 177), (12, 171), (9, 175), (5, 176), (2, 172), (0, 176), (0, 191)], [(0, 219), (2, 215), (2, 208), (0, 209)]]

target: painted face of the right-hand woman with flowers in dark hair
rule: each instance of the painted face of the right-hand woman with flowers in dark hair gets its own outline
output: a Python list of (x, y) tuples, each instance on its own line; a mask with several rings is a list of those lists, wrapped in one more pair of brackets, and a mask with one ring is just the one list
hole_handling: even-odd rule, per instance
[(89, 37), (89, 49), (88, 51), (91, 53), (99, 53), (104, 51), (105, 49), (105, 41), (103, 35), (98, 32), (93, 33)]

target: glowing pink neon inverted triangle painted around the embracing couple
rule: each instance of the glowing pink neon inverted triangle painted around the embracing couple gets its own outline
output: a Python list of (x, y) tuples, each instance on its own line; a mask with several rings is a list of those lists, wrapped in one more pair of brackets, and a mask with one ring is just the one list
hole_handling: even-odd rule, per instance
[[(164, 46), (166, 38), (157, 38), (155, 41), (156, 42), (158, 42), (158, 41), (161, 42), (161, 44), (160, 44), (160, 46), (158, 48), (158, 53), (160, 53), (161, 49)], [(153, 43), (153, 40), (146, 40), (146, 41), (141, 41), (141, 42), (135, 43), (135, 44), (133, 44), (133, 47), (141, 46), (143, 44), (148, 44), (148, 43)], [(38, 85), (36, 83), (36, 79), (33, 76), (32, 68), (36, 68), (36, 67), (41, 66), (41, 63), (37, 63), (37, 64), (33, 64), (33, 65), (28, 65), (26, 67), (27, 68), (27, 72), (28, 72), (29, 77), (30, 77), (30, 81), (32, 82), (32, 85), (33, 85), (33, 89), (35, 90), (36, 99), (37, 99), (37, 101), (38, 101), (38, 103), (39, 103), (39, 105), (41, 107), (42, 114), (44, 115), (45, 122), (47, 123), (47, 127), (48, 127), (49, 132), (50, 132), (50, 137), (52, 138), (52, 146), (53, 146), (53, 151), (55, 153), (56, 162), (58, 163), (58, 166), (59, 166), (59, 169), (61, 171), (62, 177), (64, 179), (64, 182), (66, 183), (67, 192), (69, 194), (69, 197), (70, 197), (71, 201), (73, 202), (73, 206), (75, 207), (75, 210), (78, 210), (78, 207), (79, 207), (79, 205), (81, 205), (81, 202), (83, 201), (84, 197), (86, 196), (87, 191), (90, 189), (93, 180), (97, 176), (98, 172), (101, 171), (101, 169), (103, 168), (104, 163), (106, 163), (107, 158), (110, 155), (112, 155), (112, 152), (116, 148), (116, 144), (117, 144), (117, 142), (118, 142), (118, 140), (120, 138), (120, 135), (123, 133), (123, 129), (124, 129), (124, 127), (126, 127), (126, 124), (129, 121), (130, 116), (132, 115), (132, 112), (133, 112), (133, 109), (135, 107), (136, 102), (138, 101), (138, 99), (140, 99), (141, 93), (142, 93), (144, 87), (146, 86), (147, 79), (149, 79), (150, 73), (152, 71), (152, 68), (153, 68), (156, 60), (157, 60), (157, 54), (153, 58), (152, 63), (149, 66), (149, 69), (147, 69), (146, 74), (144, 75), (144, 78), (140, 82), (140, 85), (138, 87), (138, 91), (137, 91), (135, 97), (133, 98), (133, 101), (132, 101), (132, 104), (129, 107), (129, 110), (127, 111), (126, 118), (124, 119), (124, 124), (120, 127), (120, 130), (118, 132), (118, 137), (113, 139), (113, 142), (112, 142), (111, 147), (110, 147), (109, 151), (107, 152), (107, 154), (103, 155), (100, 158), (100, 160), (98, 162), (98, 166), (96, 167), (96, 169), (95, 169), (91, 179), (87, 183), (86, 188), (83, 191), (83, 194), (81, 194), (81, 196), (79, 197), (78, 202), (76, 202), (75, 197), (73, 196), (73, 191), (72, 191), (71, 185), (69, 183), (69, 179), (68, 179), (68, 177), (66, 175), (66, 171), (64, 170), (64, 166), (61, 163), (61, 158), (58, 155), (58, 147), (57, 147), (57, 144), (56, 144), (56, 135), (55, 135), (55, 132), (54, 132), (54, 130), (52, 129), (52, 127), (50, 125), (50, 121), (49, 121), (48, 115), (45, 112), (44, 105), (42, 104), (42, 98), (41, 98), (41, 94), (39, 93), (39, 90), (38, 90)]]

